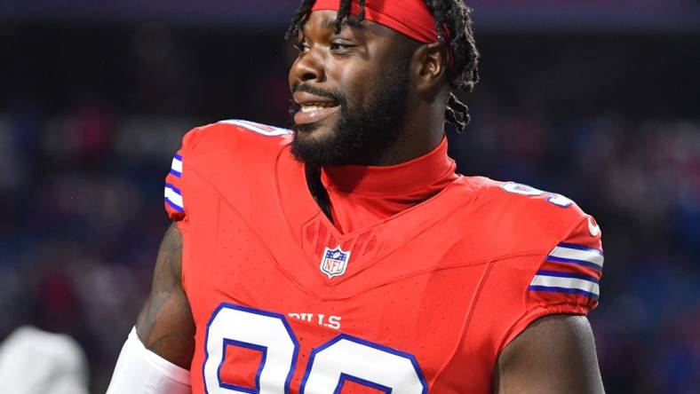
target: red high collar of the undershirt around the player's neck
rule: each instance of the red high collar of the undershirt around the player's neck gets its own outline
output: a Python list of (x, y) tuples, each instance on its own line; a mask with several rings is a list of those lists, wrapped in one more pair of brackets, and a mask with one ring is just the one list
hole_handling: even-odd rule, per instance
[(457, 179), (447, 155), (447, 138), (424, 156), (394, 166), (340, 166), (323, 169), (333, 222), (354, 232), (409, 209), (440, 193)]

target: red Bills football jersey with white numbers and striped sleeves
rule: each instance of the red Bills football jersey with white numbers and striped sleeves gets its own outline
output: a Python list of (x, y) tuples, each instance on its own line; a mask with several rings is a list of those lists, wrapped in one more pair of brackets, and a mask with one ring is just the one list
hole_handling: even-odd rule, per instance
[(600, 228), (567, 198), (457, 176), (343, 233), (290, 139), (219, 122), (173, 159), (194, 393), (485, 393), (529, 323), (597, 304)]

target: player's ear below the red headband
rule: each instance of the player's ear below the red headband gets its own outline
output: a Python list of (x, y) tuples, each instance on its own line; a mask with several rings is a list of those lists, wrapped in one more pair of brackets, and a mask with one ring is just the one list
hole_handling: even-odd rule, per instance
[(426, 43), (413, 54), (416, 89), (422, 97), (436, 95), (447, 78), (447, 47), (444, 43)]

